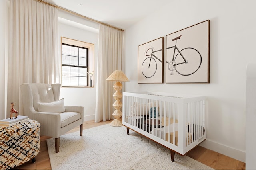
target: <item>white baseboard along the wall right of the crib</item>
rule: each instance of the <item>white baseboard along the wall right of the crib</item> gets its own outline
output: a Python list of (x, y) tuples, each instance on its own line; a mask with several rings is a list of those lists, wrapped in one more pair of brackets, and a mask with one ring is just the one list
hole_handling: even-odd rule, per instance
[(241, 162), (245, 162), (245, 151), (237, 150), (232, 147), (228, 147), (226, 145), (210, 141), (208, 139), (202, 142), (200, 146), (213, 150), (220, 154), (224, 154), (226, 156), (229, 156), (230, 158), (239, 160)]

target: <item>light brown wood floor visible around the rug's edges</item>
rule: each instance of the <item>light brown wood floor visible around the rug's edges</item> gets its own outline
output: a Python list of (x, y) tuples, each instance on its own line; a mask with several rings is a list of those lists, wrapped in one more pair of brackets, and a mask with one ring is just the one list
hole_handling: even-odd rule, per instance
[[(94, 121), (84, 122), (84, 129), (89, 129), (92, 127), (108, 124), (111, 121), (94, 123)], [(74, 131), (79, 131), (79, 127), (69, 131), (67, 133), (72, 133)], [(16, 167), (15, 169), (51, 169), (50, 158), (48, 155), (46, 139), (50, 137), (41, 136), (40, 137), (40, 152), (35, 157), (36, 162), (32, 161), (26, 162), (25, 164)], [(214, 169), (245, 169), (245, 163), (238, 160), (232, 159), (223, 154), (214, 152), (212, 150), (206, 149), (204, 147), (198, 146), (186, 154), (190, 158), (202, 162), (203, 164), (210, 166)], [(175, 158), (174, 158), (175, 159)]]

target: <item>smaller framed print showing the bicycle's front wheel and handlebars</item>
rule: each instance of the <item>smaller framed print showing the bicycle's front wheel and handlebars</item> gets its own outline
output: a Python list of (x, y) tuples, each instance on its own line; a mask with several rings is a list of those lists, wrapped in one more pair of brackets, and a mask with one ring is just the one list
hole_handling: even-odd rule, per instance
[(138, 46), (138, 83), (164, 82), (164, 37)]

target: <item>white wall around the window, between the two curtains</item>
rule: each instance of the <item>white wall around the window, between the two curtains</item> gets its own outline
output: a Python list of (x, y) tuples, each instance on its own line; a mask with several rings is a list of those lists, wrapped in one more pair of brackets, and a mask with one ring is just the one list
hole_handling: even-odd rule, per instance
[[(61, 16), (60, 14), (59, 16)], [(63, 16), (63, 15), (62, 15)], [(67, 18), (67, 17), (66, 17)], [(72, 19), (73, 18), (73, 19)], [(75, 16), (68, 18), (72, 21), (78, 19)], [(62, 20), (62, 19), (61, 19)], [(72, 26), (73, 25), (73, 26)], [(96, 83), (97, 75), (97, 59), (98, 59), (98, 33), (96, 31), (88, 31), (81, 29), (83, 26), (77, 27), (77, 23), (65, 24), (59, 21), (59, 40), (60, 37), (84, 41), (86, 43), (94, 44), (94, 76), (92, 76), (92, 84)], [(76, 26), (74, 26), (76, 25)], [(61, 42), (59, 43), (61, 44)], [(59, 47), (60, 48), (60, 47)], [(60, 98), (64, 98), (66, 106), (84, 106), (84, 121), (95, 119), (95, 102), (96, 102), (96, 88), (94, 87), (78, 87), (78, 88), (61, 88)]]

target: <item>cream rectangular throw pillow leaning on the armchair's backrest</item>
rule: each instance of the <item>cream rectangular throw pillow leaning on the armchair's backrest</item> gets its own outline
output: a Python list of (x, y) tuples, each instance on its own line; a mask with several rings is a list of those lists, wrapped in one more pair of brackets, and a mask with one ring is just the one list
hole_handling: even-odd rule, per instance
[(54, 102), (38, 102), (38, 111), (50, 113), (64, 112), (64, 98), (56, 100)]

